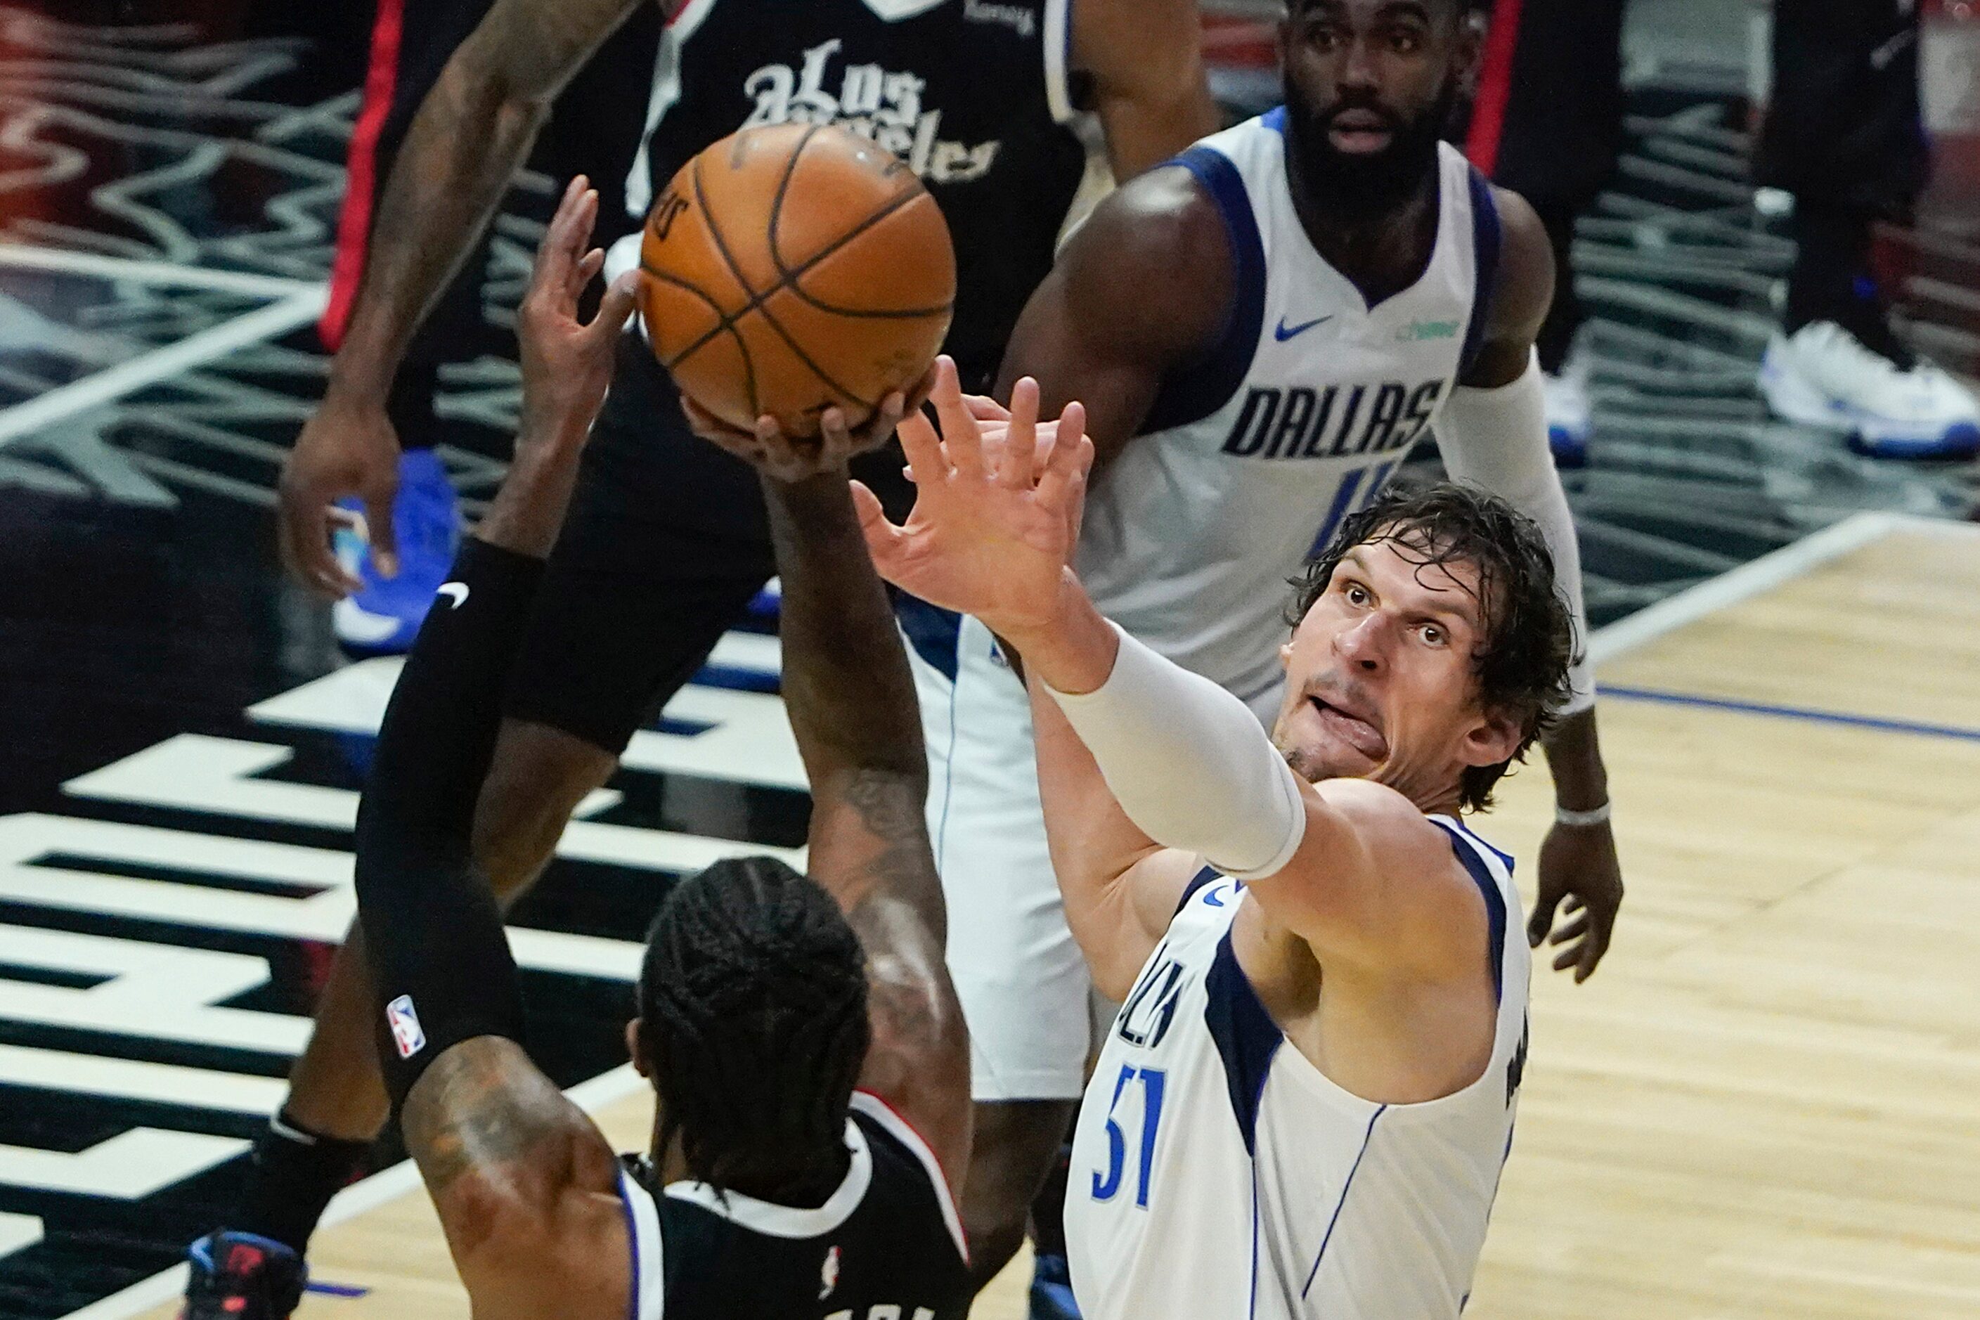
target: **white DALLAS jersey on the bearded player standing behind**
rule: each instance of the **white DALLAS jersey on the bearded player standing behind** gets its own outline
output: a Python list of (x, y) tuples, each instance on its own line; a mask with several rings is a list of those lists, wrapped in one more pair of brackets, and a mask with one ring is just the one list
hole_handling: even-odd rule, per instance
[(1499, 257), (1491, 186), (1441, 144), (1430, 263), (1368, 307), (1293, 212), (1283, 125), (1277, 109), (1176, 160), (1224, 216), (1236, 299), (1216, 348), (1162, 382), (1093, 481), (1077, 558), (1101, 613), (1245, 701), (1281, 681), (1285, 580), (1449, 398)]

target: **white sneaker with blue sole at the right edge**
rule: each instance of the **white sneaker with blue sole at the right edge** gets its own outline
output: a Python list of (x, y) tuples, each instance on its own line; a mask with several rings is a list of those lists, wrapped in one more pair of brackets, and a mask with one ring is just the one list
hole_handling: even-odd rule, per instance
[(1899, 370), (1833, 321), (1776, 334), (1760, 394), (1776, 418), (1845, 431), (1863, 453), (1950, 459), (1980, 449), (1980, 400), (1930, 362)]

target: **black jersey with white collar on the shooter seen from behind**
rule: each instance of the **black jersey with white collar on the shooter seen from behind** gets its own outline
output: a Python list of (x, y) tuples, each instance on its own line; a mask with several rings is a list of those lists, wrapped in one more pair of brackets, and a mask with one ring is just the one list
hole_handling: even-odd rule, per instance
[(865, 1092), (845, 1146), (845, 1181), (816, 1209), (657, 1187), (651, 1166), (628, 1158), (632, 1320), (964, 1320), (962, 1221), (935, 1154)]

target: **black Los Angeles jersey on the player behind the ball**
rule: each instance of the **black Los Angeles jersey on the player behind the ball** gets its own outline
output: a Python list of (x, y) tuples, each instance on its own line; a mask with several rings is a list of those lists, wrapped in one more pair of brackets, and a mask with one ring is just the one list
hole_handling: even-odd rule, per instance
[(1085, 172), (1073, 0), (687, 0), (661, 42), (634, 216), (737, 129), (838, 123), (907, 160), (956, 243), (944, 350), (984, 392)]

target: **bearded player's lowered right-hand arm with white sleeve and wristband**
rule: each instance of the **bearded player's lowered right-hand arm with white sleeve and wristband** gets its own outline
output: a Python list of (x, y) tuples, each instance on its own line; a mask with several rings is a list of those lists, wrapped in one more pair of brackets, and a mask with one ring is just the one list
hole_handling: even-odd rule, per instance
[(1566, 904), (1552, 936), (1562, 946), (1554, 970), (1574, 968), (1574, 980), (1582, 982), (1608, 952), (1624, 887), (1608, 823), (1608, 770), (1596, 736), (1582, 554), (1546, 447), (1546, 400), (1533, 352), (1554, 297), (1554, 253), (1533, 206), (1517, 192), (1493, 192), (1503, 232), (1499, 279), (1479, 352), (1437, 422), (1437, 443), (1451, 477), (1477, 483), (1540, 524), (1554, 554), (1556, 582), (1574, 612), (1580, 649), (1572, 669), (1574, 699), (1546, 736), (1546, 766), (1562, 819), (1540, 847), (1538, 900), (1527, 938), (1531, 944), (1546, 938), (1554, 912)]

